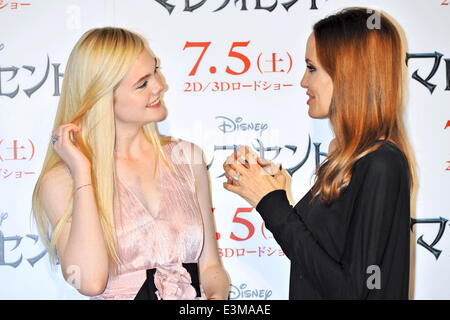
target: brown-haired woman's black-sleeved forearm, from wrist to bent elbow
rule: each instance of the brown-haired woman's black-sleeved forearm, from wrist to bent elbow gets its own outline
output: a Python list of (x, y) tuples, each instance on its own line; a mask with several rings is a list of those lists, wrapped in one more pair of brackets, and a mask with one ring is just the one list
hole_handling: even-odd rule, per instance
[(367, 294), (367, 265), (379, 265), (364, 263), (371, 259), (368, 251), (352, 253), (346, 263), (336, 260), (319, 244), (301, 215), (289, 204), (284, 190), (268, 194), (256, 209), (291, 263), (295, 262), (322, 298), (360, 299)]

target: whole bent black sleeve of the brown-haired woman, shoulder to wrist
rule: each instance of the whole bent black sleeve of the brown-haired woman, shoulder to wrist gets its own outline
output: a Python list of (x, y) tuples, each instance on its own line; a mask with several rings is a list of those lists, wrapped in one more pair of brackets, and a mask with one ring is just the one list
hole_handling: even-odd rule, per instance
[[(287, 257), (295, 260), (304, 277), (326, 299), (367, 297), (371, 275), (367, 268), (381, 265), (389, 233), (396, 232), (391, 226), (403, 180), (401, 170), (388, 159), (371, 162), (359, 174), (362, 182), (357, 188), (341, 261), (322, 248), (289, 204), (284, 190), (267, 194), (256, 207)], [(407, 245), (409, 248), (409, 242)]]

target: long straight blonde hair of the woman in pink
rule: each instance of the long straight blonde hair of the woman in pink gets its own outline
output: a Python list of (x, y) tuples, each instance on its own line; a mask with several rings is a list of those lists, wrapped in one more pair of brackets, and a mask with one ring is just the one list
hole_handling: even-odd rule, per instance
[[(110, 262), (120, 263), (113, 215), (115, 181), (114, 89), (148, 43), (142, 36), (122, 28), (96, 28), (87, 31), (73, 48), (65, 70), (61, 97), (53, 130), (65, 123), (81, 127), (77, 144), (91, 161), (94, 188), (103, 237)], [(161, 136), (155, 123), (143, 126), (145, 136), (155, 149), (155, 160), (162, 154)], [(32, 208), (39, 234), (52, 262), (56, 261), (56, 242), (73, 210), (69, 206), (51, 230), (40, 199), (42, 177), (63, 161), (49, 144), (45, 161), (33, 192)]]

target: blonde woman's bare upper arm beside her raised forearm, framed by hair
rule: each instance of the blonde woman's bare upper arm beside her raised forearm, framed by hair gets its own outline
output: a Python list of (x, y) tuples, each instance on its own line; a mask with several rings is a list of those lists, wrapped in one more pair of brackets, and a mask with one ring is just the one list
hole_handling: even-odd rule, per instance
[(72, 176), (63, 164), (53, 167), (42, 177), (39, 196), (53, 227), (64, 214), (72, 190)]

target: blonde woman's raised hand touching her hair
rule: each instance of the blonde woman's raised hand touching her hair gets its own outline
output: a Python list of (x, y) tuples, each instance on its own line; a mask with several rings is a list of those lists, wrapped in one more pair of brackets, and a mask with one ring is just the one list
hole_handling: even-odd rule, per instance
[(52, 135), (58, 136), (53, 150), (66, 163), (72, 176), (90, 173), (91, 162), (70, 138), (71, 132), (80, 132), (81, 128), (73, 123), (60, 125)]

